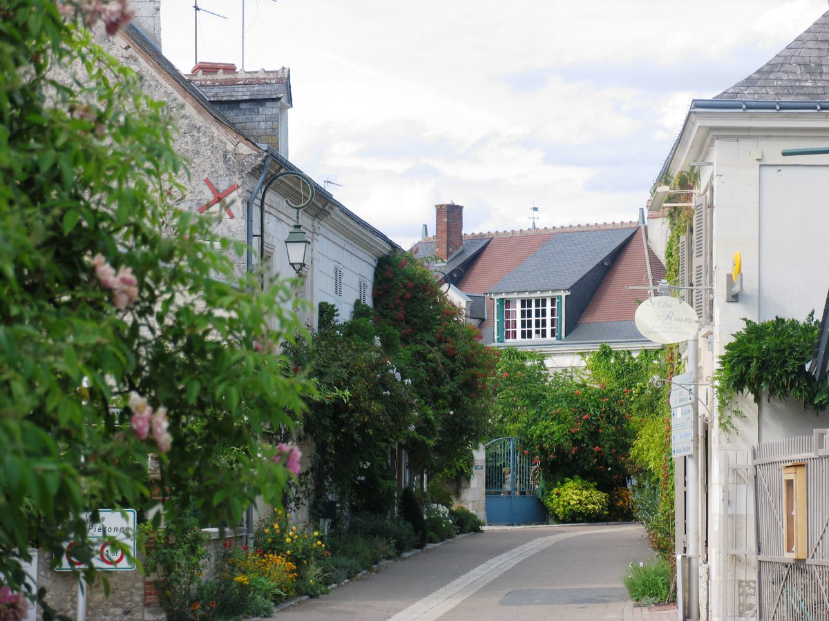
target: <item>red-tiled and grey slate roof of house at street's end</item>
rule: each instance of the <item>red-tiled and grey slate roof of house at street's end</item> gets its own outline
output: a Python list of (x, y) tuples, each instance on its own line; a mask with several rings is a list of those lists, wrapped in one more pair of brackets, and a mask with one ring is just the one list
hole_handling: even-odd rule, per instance
[[(488, 294), (570, 290), (566, 333), (562, 340), (518, 341), (522, 348), (565, 348), (599, 343), (649, 344), (636, 329), (633, 316), (638, 300), (647, 291), (628, 286), (647, 285), (644, 229), (636, 222), (587, 224), (551, 229), (527, 229), (463, 236), (463, 248), (450, 258), (466, 258), (464, 272), (453, 280), (472, 301), (470, 316), (478, 325), (483, 342), (493, 343), (494, 302)], [(434, 238), (415, 244), (419, 257), (434, 255)], [(657, 282), (665, 275), (657, 254), (647, 247), (651, 276)], [(609, 267), (602, 267), (609, 258)], [(598, 267), (597, 267), (598, 266)], [(583, 310), (576, 299), (584, 299)]]

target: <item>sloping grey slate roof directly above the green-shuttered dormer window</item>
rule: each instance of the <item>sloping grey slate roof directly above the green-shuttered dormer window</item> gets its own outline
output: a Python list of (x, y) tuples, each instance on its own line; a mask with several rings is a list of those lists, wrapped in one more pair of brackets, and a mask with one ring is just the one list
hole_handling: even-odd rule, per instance
[(637, 229), (611, 229), (558, 233), (522, 262), (490, 293), (556, 291), (570, 289), (618, 248)]

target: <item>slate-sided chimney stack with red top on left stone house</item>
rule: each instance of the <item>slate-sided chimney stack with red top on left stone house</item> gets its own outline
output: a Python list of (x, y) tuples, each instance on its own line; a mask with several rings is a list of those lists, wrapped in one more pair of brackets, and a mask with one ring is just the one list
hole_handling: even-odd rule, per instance
[(236, 70), (232, 63), (200, 62), (185, 76), (241, 132), (288, 157), (290, 70)]

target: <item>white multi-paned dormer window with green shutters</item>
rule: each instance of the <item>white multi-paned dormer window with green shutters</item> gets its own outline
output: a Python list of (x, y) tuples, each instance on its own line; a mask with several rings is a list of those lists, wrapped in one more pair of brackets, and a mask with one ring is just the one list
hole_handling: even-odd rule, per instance
[(559, 339), (560, 297), (498, 300), (498, 342)]

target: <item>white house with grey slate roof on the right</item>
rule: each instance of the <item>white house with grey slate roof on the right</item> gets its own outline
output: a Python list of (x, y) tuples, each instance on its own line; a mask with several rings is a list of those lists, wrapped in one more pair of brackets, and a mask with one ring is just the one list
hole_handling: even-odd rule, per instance
[[(827, 515), (817, 511), (825, 496), (812, 449), (783, 455), (772, 474), (763, 447), (829, 427), (829, 415), (806, 412), (797, 402), (750, 397), (739, 403), (744, 418), (736, 431), (718, 426), (711, 377), (742, 318), (775, 316), (804, 320), (821, 316), (829, 287), (826, 235), (829, 230), (829, 155), (783, 156), (784, 149), (829, 146), (829, 13), (754, 74), (714, 99), (695, 99), (659, 175), (699, 172), (693, 193), (671, 195), (695, 205), (693, 232), (681, 258), (681, 286), (693, 286), (690, 301), (700, 317), (696, 341), (696, 454), (676, 460), (678, 552), (698, 562), (702, 619), (795, 619), (796, 609), (827, 619)], [(651, 209), (659, 209), (657, 192)], [(740, 253), (743, 290), (729, 301), (734, 253)], [(694, 340), (689, 341), (693, 346)], [(688, 348), (683, 356), (689, 359)], [(691, 357), (692, 359), (692, 357)], [(808, 360), (804, 360), (807, 363)], [(786, 440), (788, 439), (788, 440)], [(698, 477), (683, 481), (683, 460), (696, 460)], [(823, 458), (824, 460), (826, 458)], [(786, 508), (773, 489), (783, 489), (786, 465), (806, 464), (810, 495), (809, 549), (802, 561), (783, 553)], [(766, 473), (766, 474), (764, 474)], [(696, 489), (681, 514), (686, 489)], [(804, 488), (805, 489), (805, 488)], [(812, 487), (809, 488), (812, 490)], [(819, 489), (819, 488), (816, 488)], [(809, 492), (812, 494), (812, 492)], [(694, 495), (698, 503), (693, 503)], [(755, 505), (755, 498), (757, 503)], [(791, 508), (791, 507), (789, 507)], [(768, 510), (778, 521), (764, 526)], [(797, 509), (799, 510), (799, 509)], [(822, 510), (822, 509), (821, 509)], [(775, 513), (777, 512), (777, 513)], [(792, 517), (793, 511), (789, 511)], [(759, 524), (759, 527), (758, 527)], [(686, 534), (697, 546), (687, 547)], [(800, 578), (794, 580), (798, 572)], [(691, 603), (691, 617), (694, 614)]]

